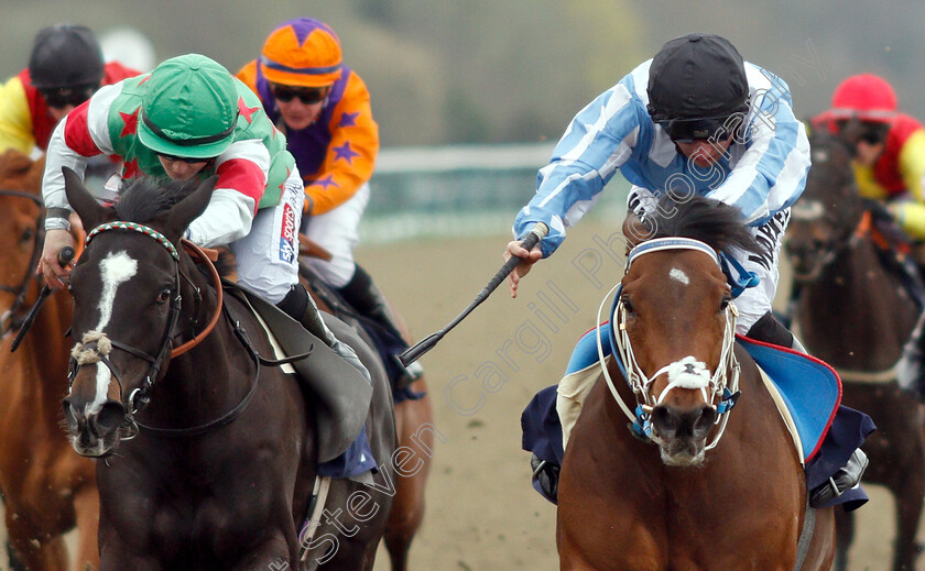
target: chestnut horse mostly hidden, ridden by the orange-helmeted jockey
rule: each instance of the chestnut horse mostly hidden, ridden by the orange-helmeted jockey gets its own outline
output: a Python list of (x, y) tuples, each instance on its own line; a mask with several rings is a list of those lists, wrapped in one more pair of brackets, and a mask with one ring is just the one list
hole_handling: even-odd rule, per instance
[[(301, 235), (300, 240), (302, 241), (302, 255), (315, 257), (329, 255), (304, 235)], [(368, 339), (356, 311), (348, 307), (334, 290), (317, 279), (308, 264), (304, 262), (300, 264), (300, 275), (303, 284), (312, 292), (323, 311), (328, 311), (351, 325), (361, 337), (367, 339), (370, 345), (373, 344)], [(396, 318), (405, 343), (412, 344), (411, 333), (404, 320), (394, 308), (390, 309)], [(424, 519), (424, 490), (434, 457), (434, 413), (431, 397), (427, 394), (425, 377), (417, 378), (409, 388), (411, 392), (423, 396), (395, 403), (395, 429), (399, 436), (399, 446), (413, 452), (417, 464), (415, 470), (400, 474), (394, 482), (395, 494), (392, 512), (389, 514), (385, 536), (383, 537), (392, 571), (407, 570), (411, 542)]]

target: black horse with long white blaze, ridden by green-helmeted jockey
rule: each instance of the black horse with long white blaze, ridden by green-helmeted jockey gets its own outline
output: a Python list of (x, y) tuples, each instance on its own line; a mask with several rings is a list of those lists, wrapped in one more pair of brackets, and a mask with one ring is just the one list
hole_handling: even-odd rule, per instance
[[(76, 344), (63, 405), (74, 449), (101, 459), (100, 571), (302, 569), (302, 552), (318, 549), (312, 565), (369, 571), (391, 498), (331, 480), (328, 498), (349, 501), (318, 509), (314, 537), (330, 542), (303, 540), (301, 524), (322, 507), (309, 504), (318, 460), (342, 450), (325, 449), (337, 435), (324, 432), (315, 395), (266, 366), (274, 349), (259, 318), (224, 293), (205, 254), (174, 245), (216, 180), (191, 194), (139, 179), (104, 208), (65, 168), (88, 240), (69, 281)], [(372, 396), (358, 418), (384, 462), (395, 448), (388, 383), (372, 351), (345, 340), (372, 376), (371, 388), (360, 381)], [(307, 359), (334, 355), (318, 343)]]

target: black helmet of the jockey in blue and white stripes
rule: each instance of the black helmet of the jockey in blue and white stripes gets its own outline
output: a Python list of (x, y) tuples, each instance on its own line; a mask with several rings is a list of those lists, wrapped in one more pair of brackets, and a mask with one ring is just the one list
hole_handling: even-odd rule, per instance
[(748, 111), (749, 83), (742, 56), (725, 37), (687, 34), (662, 46), (649, 68), (649, 114), (672, 140), (731, 133)]

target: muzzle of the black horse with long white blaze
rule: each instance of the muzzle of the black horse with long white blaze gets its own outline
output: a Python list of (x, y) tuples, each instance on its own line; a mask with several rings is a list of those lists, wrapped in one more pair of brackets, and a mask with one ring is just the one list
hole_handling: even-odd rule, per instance
[(110, 399), (90, 407), (67, 396), (62, 405), (70, 444), (78, 454), (101, 458), (116, 451), (126, 424), (126, 407), (121, 403)]

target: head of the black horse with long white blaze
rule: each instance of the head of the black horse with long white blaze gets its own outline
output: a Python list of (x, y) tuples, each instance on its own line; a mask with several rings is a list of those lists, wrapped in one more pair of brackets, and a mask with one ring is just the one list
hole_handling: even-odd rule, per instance
[(133, 436), (132, 416), (166, 372), (178, 323), (196, 320), (193, 307), (181, 307), (198, 288), (183, 271), (192, 262), (175, 244), (208, 205), (216, 180), (191, 194), (195, 185), (162, 188), (139, 179), (107, 208), (64, 171), (68, 202), (88, 232), (68, 285), (76, 343), (64, 416), (77, 453), (102, 457)]

